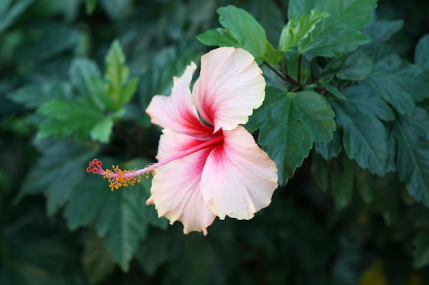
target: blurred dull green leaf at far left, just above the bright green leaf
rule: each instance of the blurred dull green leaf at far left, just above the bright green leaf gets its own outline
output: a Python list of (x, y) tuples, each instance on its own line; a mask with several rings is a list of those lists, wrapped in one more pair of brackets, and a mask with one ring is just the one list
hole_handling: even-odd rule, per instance
[(8, 94), (14, 103), (23, 104), (29, 109), (40, 107), (54, 98), (71, 100), (74, 97), (70, 83), (60, 81), (25, 85)]

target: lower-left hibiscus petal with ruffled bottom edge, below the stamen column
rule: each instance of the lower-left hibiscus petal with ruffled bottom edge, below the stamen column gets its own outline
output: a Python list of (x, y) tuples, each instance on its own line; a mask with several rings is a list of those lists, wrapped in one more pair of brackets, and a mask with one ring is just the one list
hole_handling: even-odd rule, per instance
[(167, 217), (170, 224), (182, 221), (183, 232), (204, 232), (215, 220), (210, 208), (204, 202), (199, 183), (204, 162), (210, 150), (201, 150), (172, 161), (157, 169), (152, 180), (151, 199), (159, 217)]

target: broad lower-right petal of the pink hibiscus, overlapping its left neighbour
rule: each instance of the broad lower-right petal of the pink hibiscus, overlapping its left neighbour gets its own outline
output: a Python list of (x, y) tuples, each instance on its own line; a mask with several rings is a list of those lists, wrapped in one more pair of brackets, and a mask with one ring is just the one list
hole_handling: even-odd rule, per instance
[(219, 218), (251, 219), (271, 203), (278, 187), (277, 167), (243, 126), (223, 135), (223, 146), (207, 158), (201, 193)]

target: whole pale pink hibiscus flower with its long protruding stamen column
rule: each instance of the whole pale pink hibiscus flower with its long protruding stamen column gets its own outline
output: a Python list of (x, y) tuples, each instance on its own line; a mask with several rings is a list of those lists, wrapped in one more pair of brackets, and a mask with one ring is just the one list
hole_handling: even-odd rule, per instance
[(101, 162), (88, 171), (102, 174), (117, 189), (152, 172), (151, 198), (160, 217), (181, 221), (184, 233), (207, 227), (215, 217), (251, 219), (267, 207), (278, 187), (275, 163), (259, 148), (245, 124), (265, 99), (265, 79), (244, 49), (221, 47), (201, 57), (200, 76), (191, 92), (195, 64), (174, 78), (170, 96), (156, 95), (146, 112), (163, 128), (158, 163), (133, 171)]

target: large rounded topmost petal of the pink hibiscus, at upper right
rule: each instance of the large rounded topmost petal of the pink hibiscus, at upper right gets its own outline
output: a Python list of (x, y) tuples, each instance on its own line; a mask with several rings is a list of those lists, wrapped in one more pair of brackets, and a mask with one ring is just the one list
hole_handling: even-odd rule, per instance
[(245, 124), (264, 99), (265, 79), (249, 52), (221, 47), (201, 57), (192, 102), (215, 132)]

